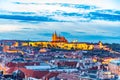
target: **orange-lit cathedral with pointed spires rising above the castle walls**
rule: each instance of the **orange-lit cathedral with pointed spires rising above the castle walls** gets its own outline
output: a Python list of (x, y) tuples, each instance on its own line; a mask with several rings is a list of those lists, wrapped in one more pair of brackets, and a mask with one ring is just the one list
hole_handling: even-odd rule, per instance
[(52, 42), (65, 42), (67, 43), (67, 39), (63, 36), (58, 36), (56, 32), (53, 33), (52, 35)]

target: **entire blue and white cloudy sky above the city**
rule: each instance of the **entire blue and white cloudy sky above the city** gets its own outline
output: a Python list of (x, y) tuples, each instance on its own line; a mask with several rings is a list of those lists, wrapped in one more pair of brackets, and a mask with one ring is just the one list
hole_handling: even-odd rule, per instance
[(120, 42), (119, 0), (0, 2), (1, 40), (49, 41), (57, 31), (69, 41)]

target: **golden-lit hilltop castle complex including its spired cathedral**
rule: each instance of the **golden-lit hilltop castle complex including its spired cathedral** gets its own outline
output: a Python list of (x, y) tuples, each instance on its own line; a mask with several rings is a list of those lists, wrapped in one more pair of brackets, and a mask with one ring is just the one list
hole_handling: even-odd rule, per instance
[[(51, 41), (37, 41), (37, 42), (29, 42), (29, 45), (38, 47), (41, 45), (44, 48), (60, 48), (66, 50), (92, 50), (94, 48), (93, 44), (88, 43), (80, 43), (80, 42), (68, 42), (68, 40), (64, 36), (58, 36), (56, 32), (52, 34)], [(28, 44), (23, 42), (23, 46), (27, 46)]]

